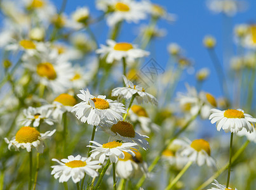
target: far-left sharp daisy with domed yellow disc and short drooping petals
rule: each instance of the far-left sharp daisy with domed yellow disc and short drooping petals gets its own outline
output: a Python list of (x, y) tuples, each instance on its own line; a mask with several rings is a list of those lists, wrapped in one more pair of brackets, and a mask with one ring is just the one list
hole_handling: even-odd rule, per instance
[(45, 133), (40, 133), (34, 127), (21, 127), (11, 141), (7, 138), (4, 138), (4, 141), (9, 144), (8, 149), (11, 149), (11, 146), (13, 146), (15, 151), (19, 151), (22, 148), (30, 152), (31, 148), (34, 147), (37, 152), (43, 153), (44, 139), (51, 137), (55, 131), (49, 130)]

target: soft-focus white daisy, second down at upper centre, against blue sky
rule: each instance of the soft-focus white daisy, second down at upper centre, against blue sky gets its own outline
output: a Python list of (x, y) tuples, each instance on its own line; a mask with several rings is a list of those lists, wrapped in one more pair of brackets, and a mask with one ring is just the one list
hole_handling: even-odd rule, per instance
[(120, 61), (122, 58), (125, 58), (127, 63), (133, 63), (136, 58), (149, 55), (149, 52), (138, 49), (134, 44), (128, 42), (118, 43), (111, 39), (107, 40), (107, 46), (100, 44), (100, 49), (97, 49), (96, 53), (100, 54), (101, 57), (107, 56), (107, 63)]

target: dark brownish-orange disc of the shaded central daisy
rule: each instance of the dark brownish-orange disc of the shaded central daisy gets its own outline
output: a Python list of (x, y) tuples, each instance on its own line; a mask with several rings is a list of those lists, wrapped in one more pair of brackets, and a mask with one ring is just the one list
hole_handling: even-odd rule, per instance
[(129, 122), (119, 121), (117, 124), (112, 125), (111, 131), (123, 137), (135, 137), (135, 130), (133, 129), (133, 125)]

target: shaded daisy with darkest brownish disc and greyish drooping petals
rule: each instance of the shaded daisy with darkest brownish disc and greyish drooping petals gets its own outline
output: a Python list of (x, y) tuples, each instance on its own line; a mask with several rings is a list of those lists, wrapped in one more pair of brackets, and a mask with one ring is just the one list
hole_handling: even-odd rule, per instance
[(137, 143), (143, 149), (149, 148), (149, 142), (145, 140), (149, 138), (148, 136), (144, 136), (138, 134), (133, 129), (133, 125), (130, 122), (126, 121), (118, 121), (117, 124), (103, 124), (99, 126), (101, 130), (109, 134), (109, 141), (123, 141), (130, 143)]

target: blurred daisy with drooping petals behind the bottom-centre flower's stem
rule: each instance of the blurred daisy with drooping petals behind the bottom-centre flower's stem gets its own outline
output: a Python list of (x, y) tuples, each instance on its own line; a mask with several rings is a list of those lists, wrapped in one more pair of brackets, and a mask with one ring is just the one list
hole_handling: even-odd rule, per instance
[(147, 174), (147, 163), (143, 161), (140, 152), (133, 148), (131, 151), (135, 153), (135, 156), (123, 152), (125, 158), (118, 158), (118, 163), (116, 163), (116, 174), (123, 179), (142, 177)]

